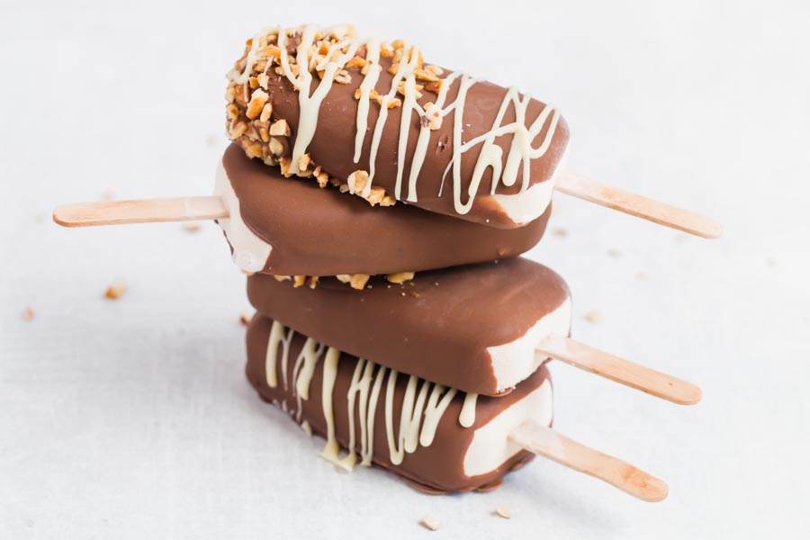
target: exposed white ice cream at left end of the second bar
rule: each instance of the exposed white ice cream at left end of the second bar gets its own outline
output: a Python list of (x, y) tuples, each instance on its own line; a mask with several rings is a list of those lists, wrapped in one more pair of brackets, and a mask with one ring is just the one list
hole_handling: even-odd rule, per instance
[(246, 272), (260, 272), (267, 263), (267, 257), (273, 247), (265, 240), (257, 237), (256, 233), (247, 228), (247, 225), (239, 213), (239, 200), (233, 187), (230, 185), (228, 173), (225, 167), (217, 167), (217, 183), (214, 194), (219, 195), (225, 206), (228, 208), (230, 217), (218, 220), (220, 228), (225, 232), (230, 247), (233, 247), (233, 262)]

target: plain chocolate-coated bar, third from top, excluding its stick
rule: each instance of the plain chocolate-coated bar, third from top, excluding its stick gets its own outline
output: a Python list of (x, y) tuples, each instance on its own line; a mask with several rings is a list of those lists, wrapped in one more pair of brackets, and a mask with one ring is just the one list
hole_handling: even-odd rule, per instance
[(254, 275), (247, 295), (261, 314), (331, 347), (485, 395), (533, 374), (546, 360), (536, 347), (571, 327), (563, 278), (520, 257), (418, 273), (405, 284), (372, 279), (362, 291), (335, 278), (311, 290)]

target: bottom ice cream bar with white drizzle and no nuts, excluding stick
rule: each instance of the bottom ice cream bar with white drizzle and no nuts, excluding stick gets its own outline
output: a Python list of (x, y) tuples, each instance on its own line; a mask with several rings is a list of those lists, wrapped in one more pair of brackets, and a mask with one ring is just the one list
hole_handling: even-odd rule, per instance
[(508, 396), (469, 400), (259, 315), (247, 329), (247, 378), (262, 399), (327, 439), (329, 461), (349, 470), (378, 464), (430, 492), (497, 487), (533, 457), (509, 433), (527, 420), (552, 421), (545, 367)]

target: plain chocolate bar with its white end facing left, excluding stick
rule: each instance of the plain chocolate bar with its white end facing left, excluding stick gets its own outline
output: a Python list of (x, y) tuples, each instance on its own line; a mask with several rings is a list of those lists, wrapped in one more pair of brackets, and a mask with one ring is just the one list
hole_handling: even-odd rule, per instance
[(275, 275), (395, 274), (514, 257), (543, 237), (550, 209), (519, 229), (493, 229), (284, 178), (231, 145), (217, 174), (219, 220), (243, 270)]

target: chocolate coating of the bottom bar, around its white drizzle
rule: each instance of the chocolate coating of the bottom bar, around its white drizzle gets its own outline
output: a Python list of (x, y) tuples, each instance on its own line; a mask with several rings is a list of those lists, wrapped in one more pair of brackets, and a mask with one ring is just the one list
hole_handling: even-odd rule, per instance
[[(290, 412), (291, 418), (294, 420), (293, 415), (297, 412), (298, 404), (292, 392), (294, 388), (292, 368), (288, 368), (287, 388), (290, 390), (284, 390), (282, 371), (279, 365), (276, 366), (279, 384), (275, 388), (271, 388), (266, 382), (265, 358), (271, 324), (271, 320), (261, 316), (254, 317), (250, 322), (247, 329), (247, 379), (263, 400), (270, 402), (276, 401), (280, 406), (284, 403), (284, 409)], [(290, 356), (292, 358), (298, 356), (304, 342), (305, 338), (301, 334), (296, 333), (290, 345)], [(336, 435), (338, 442), (344, 448), (348, 446), (349, 442), (347, 392), (355, 371), (356, 362), (357, 358), (355, 356), (347, 354), (340, 356), (338, 361), (338, 376), (332, 392)], [(458, 423), (458, 416), (464, 402), (464, 395), (457, 393), (454, 400), (447, 407), (441, 421), (438, 423), (433, 444), (430, 446), (419, 446), (412, 454), (406, 453), (402, 463), (398, 465), (391, 463), (389, 446), (386, 440), (384, 407), (382, 406), (383, 400), (381, 399), (381, 401), (378, 402), (374, 416), (374, 464), (399, 474), (420, 490), (433, 493), (443, 491), (471, 491), (486, 489), (489, 486), (497, 486), (504, 474), (509, 473), (510, 470), (517, 468), (521, 464), (527, 463), (534, 455), (522, 450), (509, 458), (505, 463), (500, 464), (498, 468), (490, 473), (473, 477), (467, 476), (464, 473), (464, 455), (473, 440), (473, 434), (476, 429), (487, 425), (492, 419), (497, 417), (500, 412), (506, 410), (511, 404), (526, 397), (529, 392), (538, 388), (540, 384), (544, 383), (548, 378), (549, 375), (545, 367), (541, 367), (537, 370), (536, 374), (533, 374), (526, 381), (520, 383), (509, 396), (497, 399), (480, 397), (476, 407), (475, 422), (470, 428), (463, 428)], [(398, 430), (402, 396), (405, 392), (407, 382), (407, 376), (403, 375), (398, 378), (395, 399), (393, 401), (395, 430)], [(325, 437), (327, 433), (327, 421), (324, 417), (321, 404), (322, 388), (323, 362), (319, 361), (311, 380), (310, 399), (302, 400), (301, 420), (306, 420), (315, 434)], [(359, 440), (360, 419), (357, 410), (356, 407), (355, 429), (356, 440)], [(359, 443), (357, 444), (356, 451), (360, 451)]]

